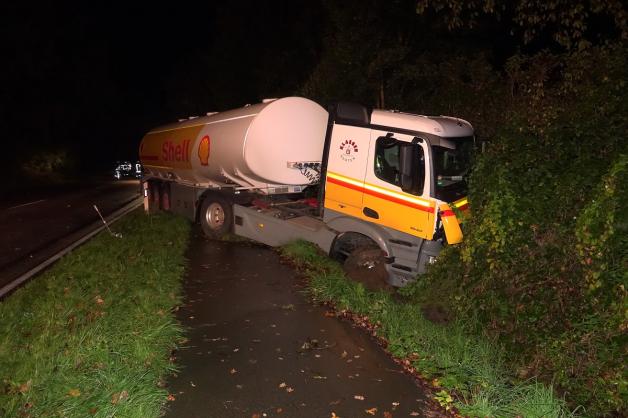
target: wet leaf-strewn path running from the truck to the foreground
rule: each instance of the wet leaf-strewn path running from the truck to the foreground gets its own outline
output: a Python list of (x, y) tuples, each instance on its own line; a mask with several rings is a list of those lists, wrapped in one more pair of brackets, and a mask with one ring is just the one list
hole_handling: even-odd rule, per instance
[(371, 337), (313, 305), (272, 250), (196, 231), (188, 258), (189, 341), (166, 417), (445, 416)]

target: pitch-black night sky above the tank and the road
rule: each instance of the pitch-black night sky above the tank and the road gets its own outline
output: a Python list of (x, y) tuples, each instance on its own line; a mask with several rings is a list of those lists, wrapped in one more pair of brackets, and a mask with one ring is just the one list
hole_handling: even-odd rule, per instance
[(294, 94), (323, 15), (316, 1), (3, 3), (5, 149), (108, 168), (157, 125)]

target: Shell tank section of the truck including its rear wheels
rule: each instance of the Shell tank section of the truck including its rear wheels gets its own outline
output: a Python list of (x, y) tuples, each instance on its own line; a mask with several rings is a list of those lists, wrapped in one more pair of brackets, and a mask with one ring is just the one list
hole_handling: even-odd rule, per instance
[(146, 194), (222, 235), (232, 225), (230, 201), (318, 183), (327, 119), (318, 104), (288, 97), (153, 129), (140, 143)]

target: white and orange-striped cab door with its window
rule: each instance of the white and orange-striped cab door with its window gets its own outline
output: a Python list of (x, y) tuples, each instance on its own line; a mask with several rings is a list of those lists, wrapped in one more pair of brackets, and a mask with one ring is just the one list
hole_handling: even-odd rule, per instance
[[(411, 155), (408, 155), (410, 148)], [(432, 239), (436, 205), (428, 194), (427, 142), (412, 135), (372, 130), (369, 150), (362, 218), (410, 235)], [(402, 176), (408, 175), (402, 172), (402, 158), (407, 160), (410, 156), (417, 166), (412, 174), (416, 176), (412, 179), (413, 190), (408, 192), (402, 188)]]

